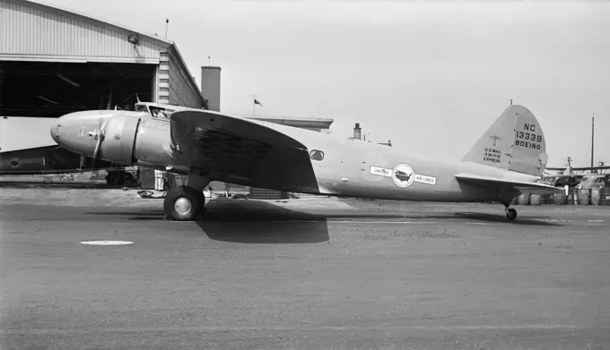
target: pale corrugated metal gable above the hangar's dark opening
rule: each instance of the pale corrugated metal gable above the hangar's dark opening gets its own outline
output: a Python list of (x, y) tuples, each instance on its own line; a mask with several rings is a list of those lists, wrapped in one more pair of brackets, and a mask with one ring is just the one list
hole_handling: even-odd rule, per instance
[[(140, 38), (136, 47), (129, 32), (85, 21), (79, 15), (36, 4), (0, 1), (0, 58), (69, 61), (156, 63), (160, 44)], [(30, 57), (23, 57), (23, 56)], [(67, 56), (67, 57), (66, 57)]]

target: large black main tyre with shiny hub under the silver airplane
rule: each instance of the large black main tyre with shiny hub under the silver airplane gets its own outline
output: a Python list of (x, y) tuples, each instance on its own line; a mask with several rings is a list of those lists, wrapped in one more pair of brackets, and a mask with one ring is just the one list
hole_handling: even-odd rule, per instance
[(204, 212), (205, 195), (192, 187), (174, 187), (165, 195), (163, 209), (173, 221), (195, 221)]

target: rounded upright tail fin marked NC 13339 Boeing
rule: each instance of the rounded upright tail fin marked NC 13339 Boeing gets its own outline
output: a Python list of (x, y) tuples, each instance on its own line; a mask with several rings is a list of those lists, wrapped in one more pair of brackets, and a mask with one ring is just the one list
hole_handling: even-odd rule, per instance
[(462, 161), (540, 176), (548, 161), (545, 134), (526, 107), (510, 106)]

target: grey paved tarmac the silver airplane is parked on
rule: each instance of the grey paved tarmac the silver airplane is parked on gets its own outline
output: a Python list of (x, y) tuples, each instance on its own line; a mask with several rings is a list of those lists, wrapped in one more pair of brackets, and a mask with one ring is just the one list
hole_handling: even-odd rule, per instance
[(607, 207), (218, 199), (175, 223), (23, 191), (0, 194), (3, 349), (610, 348)]

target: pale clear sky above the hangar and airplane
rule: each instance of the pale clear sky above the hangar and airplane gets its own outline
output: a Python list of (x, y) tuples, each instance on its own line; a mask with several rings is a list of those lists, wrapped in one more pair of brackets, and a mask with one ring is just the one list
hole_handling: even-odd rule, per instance
[[(176, 42), (222, 67), (221, 111), (315, 116), (351, 136), (459, 159), (514, 104), (548, 166), (610, 164), (610, 1), (46, 0)], [(606, 140), (605, 140), (606, 138)]]

